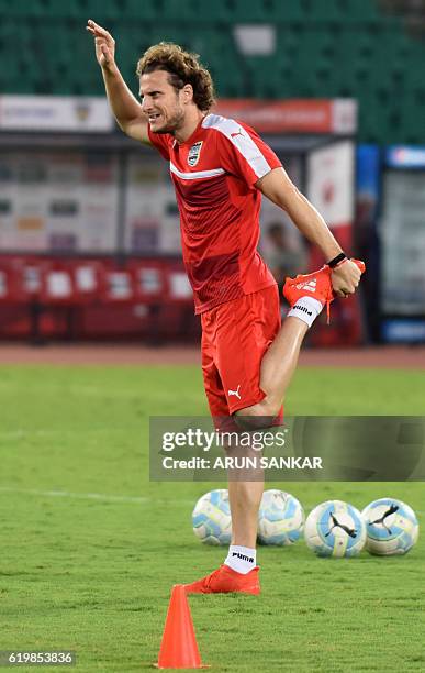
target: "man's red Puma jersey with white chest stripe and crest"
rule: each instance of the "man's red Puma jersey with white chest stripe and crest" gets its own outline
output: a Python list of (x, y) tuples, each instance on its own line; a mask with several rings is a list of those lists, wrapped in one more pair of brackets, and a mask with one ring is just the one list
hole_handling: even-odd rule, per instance
[(276, 154), (253, 129), (219, 114), (204, 117), (184, 143), (148, 133), (170, 164), (195, 312), (273, 285), (257, 252), (261, 192), (254, 185), (281, 166)]

